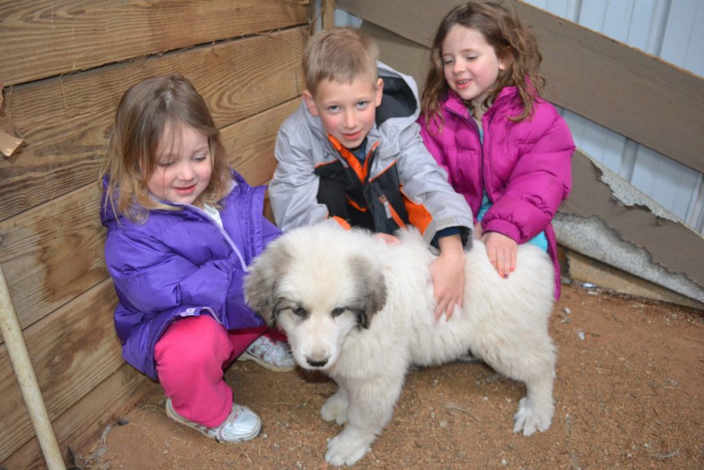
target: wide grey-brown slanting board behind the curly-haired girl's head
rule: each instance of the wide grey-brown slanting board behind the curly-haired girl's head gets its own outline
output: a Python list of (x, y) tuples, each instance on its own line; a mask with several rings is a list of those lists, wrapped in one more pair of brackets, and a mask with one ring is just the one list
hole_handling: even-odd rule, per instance
[[(337, 8), (422, 46), (430, 44), (445, 13), (463, 3), (336, 1)], [(505, 4), (515, 8), (538, 37), (548, 99), (704, 171), (703, 78), (534, 6), (516, 0)]]

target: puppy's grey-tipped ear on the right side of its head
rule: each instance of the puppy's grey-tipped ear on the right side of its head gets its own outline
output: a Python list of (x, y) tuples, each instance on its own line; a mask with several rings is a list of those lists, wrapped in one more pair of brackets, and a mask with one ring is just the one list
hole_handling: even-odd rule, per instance
[(353, 309), (362, 328), (369, 328), (372, 316), (386, 304), (386, 278), (367, 256), (356, 255), (350, 259), (350, 271), (357, 288)]

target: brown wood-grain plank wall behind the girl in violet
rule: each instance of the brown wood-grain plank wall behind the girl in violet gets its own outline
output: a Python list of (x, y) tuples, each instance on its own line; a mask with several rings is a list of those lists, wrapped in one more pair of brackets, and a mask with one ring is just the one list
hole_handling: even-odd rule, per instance
[[(0, 0), (0, 264), (62, 452), (158, 385), (123, 363), (103, 260), (97, 177), (115, 106), (143, 78), (182, 73), (249, 183), (275, 167), (298, 105), (308, 2)], [(4, 344), (0, 462), (44, 463)]]

